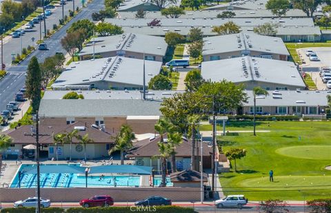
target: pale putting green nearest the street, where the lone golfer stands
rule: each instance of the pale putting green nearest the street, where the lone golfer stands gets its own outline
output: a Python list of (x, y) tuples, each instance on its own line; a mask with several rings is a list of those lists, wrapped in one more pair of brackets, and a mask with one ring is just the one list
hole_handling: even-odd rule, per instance
[[(240, 185), (243, 187), (261, 187), (259, 190), (289, 189), (326, 189), (330, 188), (330, 176), (277, 176), (274, 173), (274, 182), (269, 181), (269, 176), (254, 179), (245, 179)], [(274, 187), (274, 188), (273, 188)]]

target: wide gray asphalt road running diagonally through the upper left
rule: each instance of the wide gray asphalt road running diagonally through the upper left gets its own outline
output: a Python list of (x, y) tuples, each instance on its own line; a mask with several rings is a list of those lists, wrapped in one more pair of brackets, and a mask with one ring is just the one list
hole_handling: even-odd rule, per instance
[[(80, 1), (75, 1), (75, 5), (81, 6)], [(72, 9), (72, 1), (68, 1), (66, 4), (66, 11)], [(20, 39), (11, 39), (8, 43), (3, 45), (3, 59), (6, 63), (6, 70), (8, 74), (0, 81), (0, 111), (6, 109), (6, 105), (9, 101), (14, 100), (14, 95), (16, 92), (23, 87), (26, 76), (25, 72), (28, 68), (28, 63), (31, 57), (37, 57), (39, 62), (42, 62), (46, 59), (46, 57), (53, 56), (56, 52), (66, 53), (65, 50), (61, 47), (60, 40), (62, 37), (66, 35), (66, 30), (71, 26), (74, 21), (78, 21), (79, 19), (91, 19), (91, 14), (93, 12), (99, 11), (103, 8), (103, 0), (94, 0), (92, 3), (89, 3), (86, 8), (82, 8), (82, 11), (77, 14), (66, 26), (63, 26), (58, 32), (52, 35), (50, 39), (46, 39), (45, 43), (48, 45), (50, 50), (35, 50), (28, 56), (24, 61), (21, 62), (21, 65), (13, 65), (10, 66), (8, 63), (11, 61), (11, 53), (15, 50), (18, 52), (20, 50)], [(65, 13), (66, 14), (66, 13)], [(52, 28), (52, 21), (54, 23), (58, 23), (59, 18), (62, 17), (61, 8), (57, 8), (48, 19), (46, 19), (46, 26), (48, 28)], [(42, 23), (43, 24), (43, 23)], [(43, 27), (43, 26), (42, 26)], [(28, 45), (32, 45), (32, 37), (35, 38), (35, 41), (39, 39), (39, 24), (37, 24), (32, 30), (36, 30), (35, 32), (26, 32), (22, 37), (23, 47)], [(34, 44), (35, 45), (35, 44)], [(9, 62), (8, 62), (9, 61)]]

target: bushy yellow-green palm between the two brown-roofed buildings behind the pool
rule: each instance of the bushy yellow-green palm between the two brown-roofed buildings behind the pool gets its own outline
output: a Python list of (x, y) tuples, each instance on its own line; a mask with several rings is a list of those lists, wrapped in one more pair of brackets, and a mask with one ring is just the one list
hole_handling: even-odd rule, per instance
[(121, 165), (124, 164), (124, 152), (130, 150), (133, 147), (132, 141), (136, 137), (132, 132), (129, 125), (123, 124), (119, 134), (115, 137), (115, 145), (108, 151), (108, 154), (112, 154), (115, 151), (121, 151)]

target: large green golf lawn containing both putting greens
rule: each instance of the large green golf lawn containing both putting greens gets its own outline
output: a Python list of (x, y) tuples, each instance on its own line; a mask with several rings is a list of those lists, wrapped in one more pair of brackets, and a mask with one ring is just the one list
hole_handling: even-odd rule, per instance
[[(252, 130), (251, 121), (232, 121), (228, 126), (227, 130)], [(211, 130), (211, 125), (199, 129)], [(238, 172), (232, 169), (221, 174), (223, 191), (245, 194), (251, 201), (330, 198), (331, 171), (325, 170), (331, 164), (330, 129), (330, 121), (259, 121), (257, 130), (271, 132), (220, 136), (223, 151), (247, 150), (247, 155), (237, 160)], [(273, 183), (270, 170), (274, 171)]]

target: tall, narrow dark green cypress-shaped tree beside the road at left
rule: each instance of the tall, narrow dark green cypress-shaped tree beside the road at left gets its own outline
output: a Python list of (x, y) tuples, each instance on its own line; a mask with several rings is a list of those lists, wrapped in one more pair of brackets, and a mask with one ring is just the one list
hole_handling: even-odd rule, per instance
[(26, 97), (31, 100), (32, 112), (39, 109), (41, 100), (41, 71), (37, 57), (32, 57), (26, 74)]

